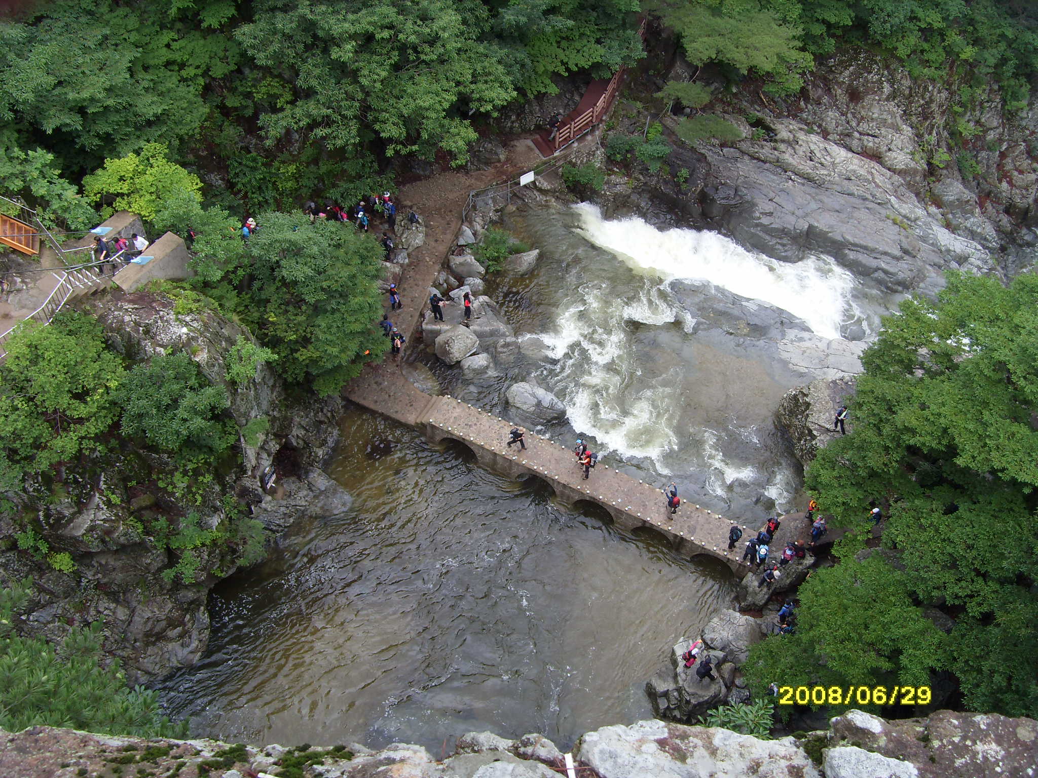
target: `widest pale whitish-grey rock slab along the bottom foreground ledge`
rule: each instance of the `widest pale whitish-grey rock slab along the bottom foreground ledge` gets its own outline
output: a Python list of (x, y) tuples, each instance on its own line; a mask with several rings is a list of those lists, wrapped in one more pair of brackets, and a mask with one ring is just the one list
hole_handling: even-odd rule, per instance
[(792, 738), (759, 741), (727, 729), (662, 721), (588, 732), (574, 755), (601, 778), (821, 778)]

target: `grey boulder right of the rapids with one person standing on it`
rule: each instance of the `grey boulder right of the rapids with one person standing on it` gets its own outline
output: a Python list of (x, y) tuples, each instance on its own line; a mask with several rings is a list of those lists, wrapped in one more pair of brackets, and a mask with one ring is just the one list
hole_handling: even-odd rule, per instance
[[(775, 424), (789, 436), (793, 453), (804, 467), (814, 461), (819, 448), (840, 435), (832, 429), (832, 419), (842, 404), (851, 405), (856, 383), (851, 377), (812, 381), (783, 395)], [(853, 424), (851, 415), (845, 424), (848, 432)]]

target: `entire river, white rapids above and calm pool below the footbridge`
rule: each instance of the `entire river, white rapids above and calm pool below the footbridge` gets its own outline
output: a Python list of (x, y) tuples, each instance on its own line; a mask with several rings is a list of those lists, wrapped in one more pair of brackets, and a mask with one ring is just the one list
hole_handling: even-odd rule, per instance
[[(542, 259), (488, 294), (540, 357), (474, 384), (412, 359), (495, 411), (508, 383), (536, 374), (570, 409), (544, 432), (582, 434), (621, 469), (674, 478), (686, 499), (754, 523), (792, 507), (800, 474), (771, 414), (802, 377), (738, 333), (690, 326), (667, 284), (738, 282), (733, 291), (788, 306), (826, 337), (875, 326), (867, 289), (823, 259), (776, 267), (715, 235), (606, 223), (586, 206), (522, 211), (509, 226)], [(159, 687), (197, 735), (409, 742), (439, 755), (491, 729), (568, 747), (650, 717), (644, 683), (668, 646), (734, 605), (720, 563), (557, 505), (544, 484), (488, 472), (457, 444), (361, 410), (342, 432), (329, 473), (352, 507), (297, 522), (266, 562), (217, 586), (206, 656)]]

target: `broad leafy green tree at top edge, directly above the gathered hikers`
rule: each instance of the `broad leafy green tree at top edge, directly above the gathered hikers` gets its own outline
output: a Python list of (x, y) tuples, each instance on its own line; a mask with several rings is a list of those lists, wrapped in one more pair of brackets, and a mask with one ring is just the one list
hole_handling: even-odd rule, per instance
[(512, 81), (494, 48), (479, 39), (486, 8), (452, 0), (262, 0), (236, 38), (255, 62), (295, 89), (260, 117), (272, 142), (292, 134), (331, 149), (463, 162), (476, 139), (461, 114), (493, 113)]

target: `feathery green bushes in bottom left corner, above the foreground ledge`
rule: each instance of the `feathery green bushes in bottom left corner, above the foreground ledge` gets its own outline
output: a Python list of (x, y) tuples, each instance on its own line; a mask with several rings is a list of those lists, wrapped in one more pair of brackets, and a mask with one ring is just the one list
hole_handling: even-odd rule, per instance
[(0, 727), (73, 727), (141, 738), (187, 735), (187, 726), (162, 716), (158, 694), (128, 689), (118, 661), (101, 665), (101, 624), (73, 628), (51, 645), (15, 634), (30, 582), (0, 589)]

